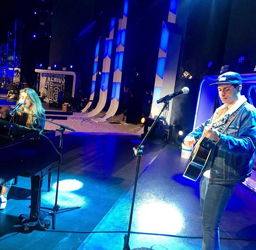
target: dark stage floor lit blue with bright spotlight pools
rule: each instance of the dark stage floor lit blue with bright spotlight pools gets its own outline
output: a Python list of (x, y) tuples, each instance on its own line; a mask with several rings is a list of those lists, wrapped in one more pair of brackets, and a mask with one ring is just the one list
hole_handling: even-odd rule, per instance
[[(130, 159), (132, 147), (139, 143), (140, 138), (132, 135), (65, 134), (58, 204), (81, 208), (58, 213), (55, 232), (21, 233), (17, 216), (29, 213), (30, 182), (19, 177), (18, 185), (10, 189), (6, 209), (0, 211), (0, 249), (123, 249), (124, 233), (76, 232), (127, 231), (137, 163)], [(148, 140), (145, 144), (132, 231), (187, 238), (132, 234), (130, 249), (201, 248), (201, 238), (188, 238), (202, 236), (199, 182), (182, 177), (186, 160), (180, 154), (162, 140)], [(56, 172), (53, 185), (54, 180)], [(45, 179), (42, 206), (52, 207), (55, 190), (47, 192), (46, 186)], [(222, 239), (221, 249), (256, 249), (254, 241), (240, 240), (256, 238), (255, 207), (256, 195), (238, 185), (220, 226), (221, 237), (233, 239)]]

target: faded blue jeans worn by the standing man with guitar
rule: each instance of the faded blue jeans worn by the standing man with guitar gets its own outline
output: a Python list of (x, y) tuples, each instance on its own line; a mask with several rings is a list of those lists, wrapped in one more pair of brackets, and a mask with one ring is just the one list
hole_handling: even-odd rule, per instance
[(209, 183), (202, 176), (200, 181), (201, 217), (203, 226), (202, 250), (219, 250), (219, 222), (228, 200), (237, 184), (219, 185)]

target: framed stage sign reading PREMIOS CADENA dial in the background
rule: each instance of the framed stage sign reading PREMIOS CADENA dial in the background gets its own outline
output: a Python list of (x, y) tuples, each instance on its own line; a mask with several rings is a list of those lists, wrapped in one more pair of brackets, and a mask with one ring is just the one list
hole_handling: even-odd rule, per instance
[(40, 73), (39, 92), (46, 102), (57, 101), (58, 93), (66, 90), (67, 98), (76, 97), (75, 89), (80, 88), (80, 77), (75, 72), (35, 69)]

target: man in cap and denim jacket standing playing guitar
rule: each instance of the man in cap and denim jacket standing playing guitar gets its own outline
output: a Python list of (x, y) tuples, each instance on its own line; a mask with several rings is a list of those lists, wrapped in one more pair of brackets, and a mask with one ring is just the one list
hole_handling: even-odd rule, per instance
[[(223, 105), (216, 109), (211, 119), (188, 134), (184, 144), (192, 146), (202, 135), (216, 144), (202, 171), (200, 202), (202, 250), (219, 250), (219, 222), (228, 200), (236, 185), (252, 173), (256, 149), (256, 109), (240, 94), (242, 79), (238, 73), (224, 73), (210, 85), (217, 85)], [(229, 122), (221, 133), (211, 124), (224, 116), (229, 117)]]

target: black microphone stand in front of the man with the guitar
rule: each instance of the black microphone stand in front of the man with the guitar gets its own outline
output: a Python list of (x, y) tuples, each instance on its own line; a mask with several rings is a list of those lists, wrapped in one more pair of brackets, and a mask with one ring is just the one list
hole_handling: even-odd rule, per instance
[(124, 248), (123, 248), (123, 250), (130, 250), (129, 239), (130, 239), (130, 234), (131, 234), (131, 222), (132, 222), (133, 207), (134, 207), (136, 188), (137, 188), (137, 182), (138, 182), (138, 176), (139, 176), (140, 160), (141, 160), (141, 156), (143, 155), (143, 151), (142, 150), (144, 149), (143, 144), (144, 144), (145, 140), (147, 139), (148, 135), (150, 134), (151, 130), (155, 126), (155, 124), (158, 122), (161, 113), (163, 112), (163, 110), (165, 110), (167, 108), (167, 106), (169, 104), (169, 100), (171, 100), (171, 99), (172, 98), (168, 98), (168, 100), (165, 100), (164, 105), (163, 105), (163, 107), (161, 109), (161, 112), (156, 117), (156, 119), (155, 119), (154, 123), (152, 124), (150, 130), (148, 130), (147, 134), (143, 138), (143, 140), (142, 140), (141, 144), (138, 146), (138, 148), (135, 149), (135, 147), (133, 147), (134, 154), (133, 154), (131, 160), (134, 160), (134, 158), (136, 156), (138, 156), (138, 159), (137, 159), (137, 167), (136, 167), (136, 174), (135, 174), (134, 188), (133, 188), (133, 195), (132, 195), (132, 202), (131, 202), (131, 212), (130, 212), (130, 220), (129, 220), (129, 226), (128, 226), (128, 233), (125, 234), (125, 236), (124, 236)]

